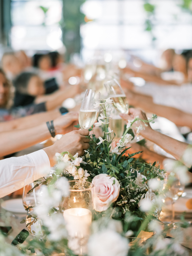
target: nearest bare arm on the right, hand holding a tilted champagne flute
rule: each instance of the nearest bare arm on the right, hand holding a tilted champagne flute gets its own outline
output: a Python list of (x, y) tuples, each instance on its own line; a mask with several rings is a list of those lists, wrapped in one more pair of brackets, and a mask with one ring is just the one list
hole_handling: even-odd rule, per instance
[[(142, 120), (147, 120), (144, 112), (134, 108), (129, 109), (129, 114), (120, 114), (120, 116), (126, 121), (132, 120), (136, 116), (139, 116), (139, 118)], [(181, 160), (186, 148), (188, 147), (187, 143), (181, 142), (179, 140), (161, 134), (158, 131), (155, 131), (150, 127), (149, 124), (147, 124), (146, 127), (144, 123), (141, 122), (141, 125), (143, 125), (143, 127), (145, 128), (139, 132), (141, 136), (163, 148), (167, 153), (174, 156), (177, 160)]]

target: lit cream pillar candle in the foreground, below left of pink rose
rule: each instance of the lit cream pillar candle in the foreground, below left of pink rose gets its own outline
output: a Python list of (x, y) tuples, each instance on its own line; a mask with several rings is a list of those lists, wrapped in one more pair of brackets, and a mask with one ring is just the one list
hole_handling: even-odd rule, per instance
[(85, 208), (70, 208), (63, 212), (68, 232), (68, 246), (75, 254), (85, 254), (90, 235), (92, 213)]

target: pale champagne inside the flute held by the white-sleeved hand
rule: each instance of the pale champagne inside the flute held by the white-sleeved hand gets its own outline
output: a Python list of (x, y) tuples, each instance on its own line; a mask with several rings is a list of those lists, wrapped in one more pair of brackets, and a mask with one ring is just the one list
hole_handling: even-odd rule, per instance
[(97, 111), (95, 110), (80, 110), (79, 112), (79, 124), (82, 129), (89, 129), (97, 117)]

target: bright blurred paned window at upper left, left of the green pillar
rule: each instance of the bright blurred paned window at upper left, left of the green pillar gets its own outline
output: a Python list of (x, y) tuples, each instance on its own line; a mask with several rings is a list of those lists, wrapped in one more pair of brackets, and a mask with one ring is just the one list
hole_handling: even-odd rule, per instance
[(11, 0), (14, 50), (57, 50), (63, 46), (61, 0)]

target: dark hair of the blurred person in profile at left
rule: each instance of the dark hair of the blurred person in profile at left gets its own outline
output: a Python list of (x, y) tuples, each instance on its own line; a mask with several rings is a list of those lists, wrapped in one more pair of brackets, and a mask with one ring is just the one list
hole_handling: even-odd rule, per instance
[(13, 85), (17, 92), (27, 94), (27, 86), (31, 77), (37, 76), (35, 73), (31, 72), (23, 72), (16, 77), (13, 81)]

